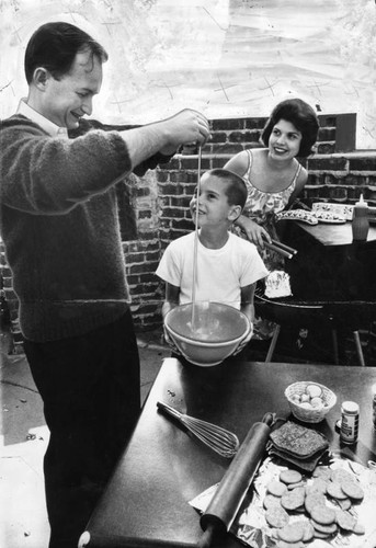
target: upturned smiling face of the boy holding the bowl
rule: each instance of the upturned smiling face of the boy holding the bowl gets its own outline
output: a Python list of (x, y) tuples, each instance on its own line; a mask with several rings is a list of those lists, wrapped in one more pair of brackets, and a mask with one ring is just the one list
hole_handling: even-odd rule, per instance
[[(227, 183), (216, 176), (204, 174), (200, 183), (198, 226), (215, 226), (232, 222), (240, 213), (240, 206), (229, 205), (226, 195)], [(196, 220), (197, 194), (191, 199), (190, 208)]]

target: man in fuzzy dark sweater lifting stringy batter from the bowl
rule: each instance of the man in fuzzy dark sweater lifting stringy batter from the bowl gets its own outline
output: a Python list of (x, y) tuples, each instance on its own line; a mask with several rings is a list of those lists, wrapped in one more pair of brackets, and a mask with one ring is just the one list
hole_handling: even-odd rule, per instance
[(115, 185), (209, 135), (206, 118), (185, 110), (68, 138), (91, 114), (106, 58), (76, 26), (42, 25), (25, 52), (29, 96), (0, 127), (1, 235), (50, 431), (50, 548), (77, 547), (140, 409)]

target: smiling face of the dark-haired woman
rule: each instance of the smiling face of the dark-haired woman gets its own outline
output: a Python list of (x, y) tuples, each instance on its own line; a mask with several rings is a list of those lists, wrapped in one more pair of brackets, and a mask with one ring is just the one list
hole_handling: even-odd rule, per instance
[(274, 160), (292, 160), (300, 148), (301, 133), (286, 119), (280, 119), (269, 138), (269, 153)]

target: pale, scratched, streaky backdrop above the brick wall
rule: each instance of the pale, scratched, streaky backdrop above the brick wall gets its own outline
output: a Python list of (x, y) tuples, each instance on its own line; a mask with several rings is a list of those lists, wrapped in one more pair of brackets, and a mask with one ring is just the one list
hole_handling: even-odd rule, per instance
[(301, 96), (356, 112), (357, 148), (376, 148), (374, 0), (0, 0), (0, 116), (27, 88), (34, 30), (64, 20), (110, 53), (93, 116), (145, 123), (182, 107), (209, 118), (267, 115)]

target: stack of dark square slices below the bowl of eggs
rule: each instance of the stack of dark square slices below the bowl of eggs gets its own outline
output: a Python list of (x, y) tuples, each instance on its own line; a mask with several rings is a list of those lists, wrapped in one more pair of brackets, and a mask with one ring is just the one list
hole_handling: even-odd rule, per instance
[(270, 438), (269, 454), (303, 471), (312, 471), (329, 448), (329, 442), (322, 434), (292, 421), (273, 431)]

